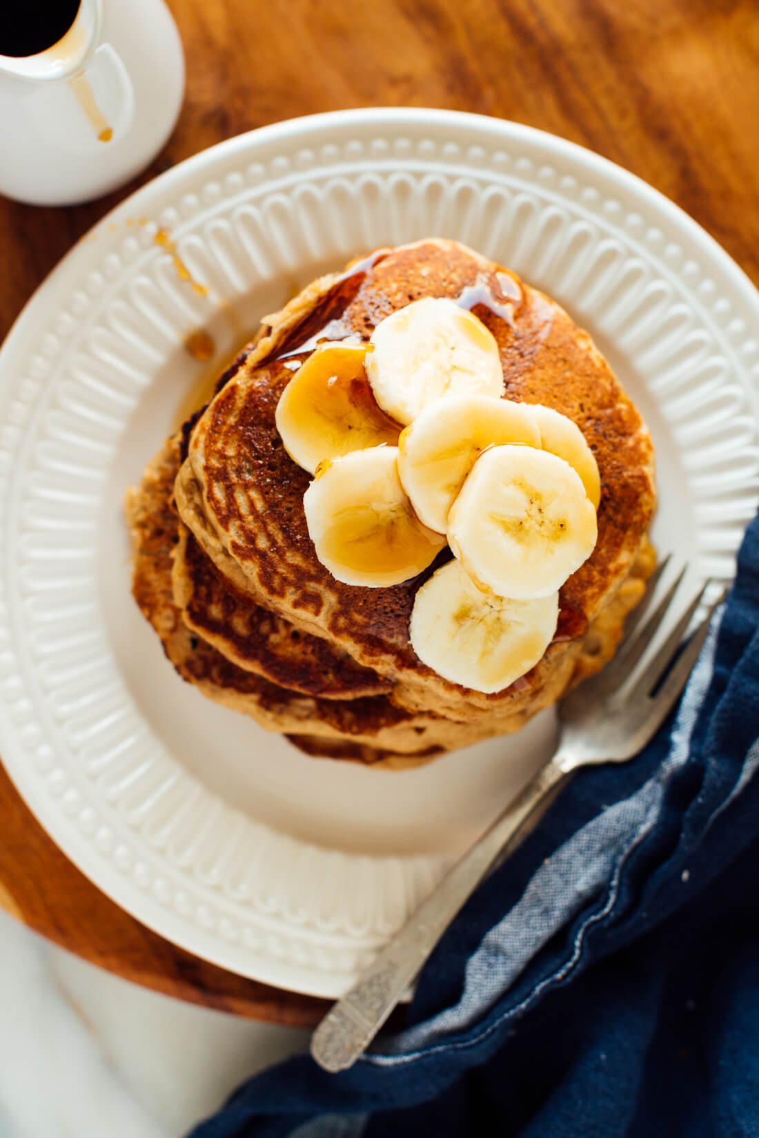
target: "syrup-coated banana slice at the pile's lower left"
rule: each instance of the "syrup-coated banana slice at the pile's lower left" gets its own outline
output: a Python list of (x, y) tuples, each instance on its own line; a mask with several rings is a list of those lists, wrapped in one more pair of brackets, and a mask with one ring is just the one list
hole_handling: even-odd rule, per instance
[(410, 580), (445, 545), (412, 510), (395, 446), (322, 463), (303, 505), (316, 556), (346, 585), (380, 588)]

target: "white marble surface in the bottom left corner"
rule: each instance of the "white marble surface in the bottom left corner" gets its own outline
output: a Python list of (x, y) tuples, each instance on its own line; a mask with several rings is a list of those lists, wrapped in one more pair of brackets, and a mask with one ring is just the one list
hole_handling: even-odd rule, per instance
[(0, 914), (0, 1138), (179, 1138), (307, 1039), (146, 991)]

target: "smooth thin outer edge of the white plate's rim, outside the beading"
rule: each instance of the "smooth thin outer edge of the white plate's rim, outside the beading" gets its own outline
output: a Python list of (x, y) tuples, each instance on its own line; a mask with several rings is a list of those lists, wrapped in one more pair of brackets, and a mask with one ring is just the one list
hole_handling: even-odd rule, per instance
[[(304, 145), (307, 145), (308, 138), (312, 134), (323, 131), (324, 127), (368, 131), (383, 126), (395, 127), (399, 124), (413, 124), (421, 129), (429, 127), (436, 132), (446, 126), (485, 131), (490, 137), (500, 134), (504, 142), (513, 145), (514, 142), (525, 141), (531, 146), (536, 146), (538, 149), (543, 148), (546, 157), (551, 157), (552, 155), (563, 156), (574, 163), (579, 162), (586, 170), (603, 176), (604, 180), (611, 182), (614, 187), (621, 184), (634, 197), (646, 201), (654, 212), (660, 214), (663, 212), (665, 216), (671, 218), (677, 228), (685, 228), (688, 237), (703, 250), (704, 258), (710, 263), (710, 271), (713, 273), (715, 265), (718, 265), (720, 273), (727, 279), (731, 291), (734, 295), (739, 292), (742, 303), (750, 310), (753, 310), (754, 314), (759, 314), (759, 295), (749, 277), (733, 261), (729, 254), (679, 206), (635, 174), (578, 143), (558, 138), (535, 127), (512, 123), (506, 119), (443, 109), (366, 108), (329, 112), (291, 118), (246, 132), (216, 143), (209, 149), (184, 159), (178, 166), (158, 175), (104, 215), (92, 226), (90, 232), (108, 225), (127, 212), (134, 213), (140, 209), (145, 212), (143, 207), (148, 206), (148, 204), (154, 209), (160, 207), (163, 205), (162, 197), (180, 188), (182, 183), (191, 180), (203, 171), (207, 171), (212, 175), (214, 166), (229, 158), (233, 158), (237, 154), (245, 152), (250, 146), (262, 147), (270, 142), (287, 142), (294, 138), (300, 139)], [(403, 162), (399, 160), (398, 165), (402, 166)], [(8, 388), (13, 382), (11, 369), (7, 366), (8, 361), (17, 352), (27, 351), (25, 340), (36, 319), (34, 310), (38, 302), (47, 299), (47, 295), (61, 289), (67, 283), (71, 274), (74, 272), (79, 273), (83, 261), (90, 251), (83, 248), (81, 241), (77, 242), (51, 270), (16, 318), (0, 351), (0, 398), (6, 398)], [(756, 401), (756, 385), (752, 388), (752, 393)], [(7, 757), (5, 760), (6, 769), (22, 793), (26, 805), (65, 855), (107, 896), (114, 898), (117, 904), (122, 905), (122, 907), (155, 932), (173, 941), (179, 947), (193, 951), (222, 967), (228, 967), (231, 971), (249, 975), (265, 983), (277, 984), (296, 991), (316, 996), (333, 996), (336, 988), (347, 983), (352, 978), (352, 973), (339, 974), (333, 968), (320, 971), (313, 964), (303, 966), (290, 964), (283, 959), (270, 959), (267, 957), (257, 958), (255, 966), (251, 968), (251, 953), (249, 949), (242, 945), (228, 943), (217, 933), (206, 932), (198, 925), (195, 925), (192, 929), (193, 943), (189, 945), (185, 935), (187, 922), (184, 918), (162, 905), (149, 893), (143, 892), (124, 875), (117, 875), (106, 858), (93, 859), (91, 839), (83, 835), (69, 823), (64, 813), (49, 797), (39, 793), (34, 786), (36, 776), (31, 770), (27, 772), (24, 768), (24, 762), (11, 758), (15, 744), (13, 728), (7, 721), (7, 710), (3, 701), (0, 701), (0, 748), (3, 756)], [(117, 888), (114, 888), (114, 881), (117, 882)], [(304, 973), (307, 973), (307, 979), (305, 979)]]

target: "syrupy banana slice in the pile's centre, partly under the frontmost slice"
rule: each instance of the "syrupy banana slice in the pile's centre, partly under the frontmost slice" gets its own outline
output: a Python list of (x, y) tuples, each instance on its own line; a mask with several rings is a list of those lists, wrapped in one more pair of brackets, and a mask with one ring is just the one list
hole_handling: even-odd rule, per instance
[(424, 407), (401, 434), (398, 473), (418, 517), (444, 534), (448, 511), (477, 456), (497, 443), (541, 447), (522, 403), (488, 395), (452, 395)]

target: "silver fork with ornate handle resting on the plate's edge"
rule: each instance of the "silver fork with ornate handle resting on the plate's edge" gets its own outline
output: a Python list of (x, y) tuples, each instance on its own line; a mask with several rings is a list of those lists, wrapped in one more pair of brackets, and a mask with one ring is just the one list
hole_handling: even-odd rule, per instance
[[(660, 563), (649, 580), (646, 594), (627, 622), (625, 641), (614, 659), (559, 706), (561, 734), (551, 761), (456, 861), (316, 1028), (311, 1054), (320, 1066), (344, 1071), (363, 1054), (477, 885), (539, 822), (571, 775), (591, 764), (632, 759), (665, 720), (685, 686), (711, 616), (723, 599), (720, 594), (707, 607), (678, 655), (683, 637), (712, 583), (695, 592), (685, 589), (688, 595), (683, 603), (680, 585), (686, 571), (683, 566), (654, 604), (654, 592), (668, 560)], [(670, 609), (676, 610), (675, 624), (658, 651), (643, 660)]]

